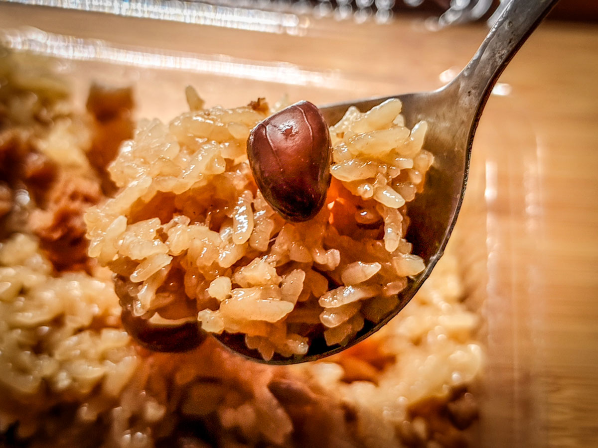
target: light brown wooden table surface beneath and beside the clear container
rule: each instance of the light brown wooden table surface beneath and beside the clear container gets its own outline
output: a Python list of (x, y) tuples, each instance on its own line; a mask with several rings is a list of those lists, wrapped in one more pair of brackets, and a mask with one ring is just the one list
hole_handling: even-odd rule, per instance
[[(50, 40), (83, 38), (64, 53), (75, 59), (89, 56), (85, 39), (104, 39), (100, 62), (72, 63), (87, 67), (75, 84), (114, 82), (115, 66), (101, 59), (120, 58), (118, 81), (143, 92), (139, 113), (165, 119), (184, 108), (189, 83), (225, 106), (264, 94), (326, 103), (437, 88), (487, 31), (429, 32), (410, 18), (249, 32), (0, 4), (0, 30), (14, 36), (23, 25)], [(183, 68), (151, 68), (155, 59), (142, 56), (156, 53)], [(471, 185), (485, 198), (489, 377), (511, 382), (490, 391), (505, 409), (486, 422), (487, 445), (598, 446), (598, 26), (542, 24), (499, 82), (474, 142)]]

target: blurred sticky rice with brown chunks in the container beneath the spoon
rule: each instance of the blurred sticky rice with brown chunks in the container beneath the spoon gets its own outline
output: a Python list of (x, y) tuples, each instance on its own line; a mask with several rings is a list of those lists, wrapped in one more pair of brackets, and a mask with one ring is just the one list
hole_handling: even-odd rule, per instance
[(458, 226), (401, 313), (333, 357), (264, 366), (213, 338), (141, 348), (82, 238), (85, 211), (114, 191), (99, 161), (130, 102), (92, 88), (91, 112), (75, 112), (52, 64), (0, 48), (0, 446), (476, 446), (483, 346)]

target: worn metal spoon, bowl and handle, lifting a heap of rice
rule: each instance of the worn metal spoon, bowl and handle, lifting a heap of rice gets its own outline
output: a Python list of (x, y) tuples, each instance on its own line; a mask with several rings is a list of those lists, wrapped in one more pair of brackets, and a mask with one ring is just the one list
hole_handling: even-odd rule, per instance
[(403, 104), (405, 125), (412, 127), (420, 120), (428, 122), (424, 146), (434, 154), (434, 165), (426, 175), (424, 191), (409, 203), (407, 211), (411, 220), (407, 240), (413, 243), (413, 253), (425, 261), (426, 269), (399, 294), (396, 309), (378, 323), (367, 322), (345, 346), (329, 347), (323, 337), (312, 340), (309, 351), (302, 357), (283, 358), (275, 354), (271, 360), (264, 361), (257, 351), (247, 348), (243, 335), (217, 335), (224, 345), (261, 363), (313, 361), (365, 339), (407, 305), (443, 255), (453, 231), (465, 193), (472, 141), (490, 91), (514, 54), (557, 1), (512, 0), (465, 69), (438, 90), (339, 103), (320, 109), (328, 123), (335, 123), (349, 106), (367, 111), (386, 99), (398, 98)]

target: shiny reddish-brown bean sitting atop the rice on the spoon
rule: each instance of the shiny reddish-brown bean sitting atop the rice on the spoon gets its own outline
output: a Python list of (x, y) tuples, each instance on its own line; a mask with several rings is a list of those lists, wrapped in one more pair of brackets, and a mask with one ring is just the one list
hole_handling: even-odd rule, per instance
[(301, 101), (271, 115), (249, 134), (249, 165), (271, 207), (285, 219), (306, 221), (324, 205), (332, 150), (318, 108)]

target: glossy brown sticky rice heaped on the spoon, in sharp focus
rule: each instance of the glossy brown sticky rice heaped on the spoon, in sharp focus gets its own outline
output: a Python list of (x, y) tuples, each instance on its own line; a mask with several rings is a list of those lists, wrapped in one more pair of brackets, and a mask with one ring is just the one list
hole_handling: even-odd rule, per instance
[(405, 203), (432, 163), (426, 123), (404, 127), (396, 99), (349, 109), (330, 128), (326, 206), (291, 223), (264, 200), (247, 160), (267, 103), (201, 106), (167, 125), (141, 122), (108, 168), (120, 191), (85, 217), (89, 255), (125, 279), (133, 314), (243, 333), (265, 359), (306, 354), (322, 332), (344, 345), (365, 319), (380, 320), (424, 268), (404, 235)]

